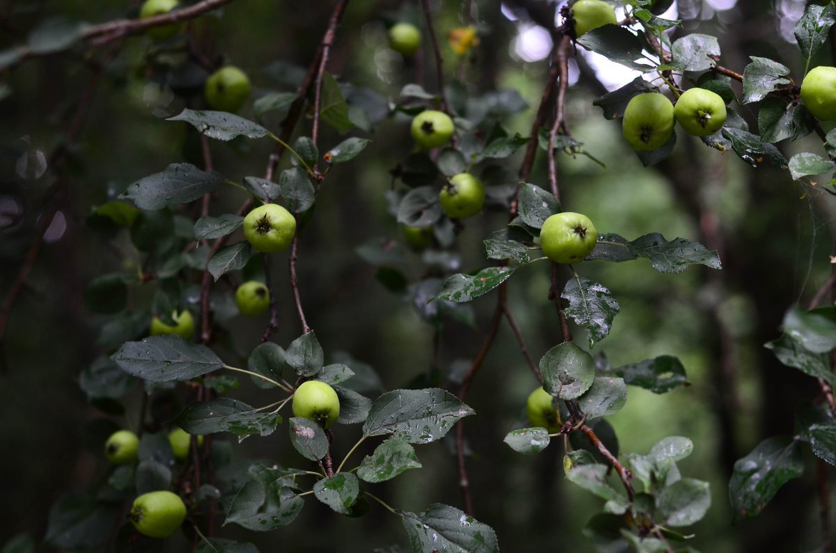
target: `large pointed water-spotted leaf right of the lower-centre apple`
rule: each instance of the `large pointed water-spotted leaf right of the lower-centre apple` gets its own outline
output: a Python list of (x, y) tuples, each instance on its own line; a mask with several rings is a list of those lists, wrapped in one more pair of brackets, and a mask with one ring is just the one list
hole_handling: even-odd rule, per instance
[(363, 434), (395, 434), (410, 444), (429, 444), (472, 414), (472, 408), (440, 388), (393, 390), (372, 403)]

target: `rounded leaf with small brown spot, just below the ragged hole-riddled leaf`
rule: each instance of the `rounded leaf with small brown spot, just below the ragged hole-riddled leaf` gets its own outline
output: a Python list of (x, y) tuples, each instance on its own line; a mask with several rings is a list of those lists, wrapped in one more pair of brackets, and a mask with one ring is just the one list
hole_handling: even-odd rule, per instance
[(574, 399), (586, 392), (595, 378), (595, 368), (589, 353), (563, 342), (540, 358), (543, 388), (560, 399)]

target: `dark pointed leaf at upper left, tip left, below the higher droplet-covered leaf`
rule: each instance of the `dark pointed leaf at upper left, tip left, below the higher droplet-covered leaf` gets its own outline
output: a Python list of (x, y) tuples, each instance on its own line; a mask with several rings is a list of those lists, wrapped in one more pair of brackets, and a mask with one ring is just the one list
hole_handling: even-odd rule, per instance
[(119, 197), (133, 200), (142, 210), (155, 211), (196, 200), (226, 180), (214, 171), (207, 173), (188, 163), (173, 163), (161, 173), (137, 180)]

